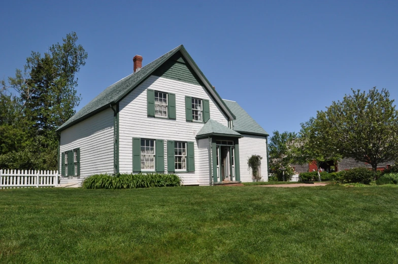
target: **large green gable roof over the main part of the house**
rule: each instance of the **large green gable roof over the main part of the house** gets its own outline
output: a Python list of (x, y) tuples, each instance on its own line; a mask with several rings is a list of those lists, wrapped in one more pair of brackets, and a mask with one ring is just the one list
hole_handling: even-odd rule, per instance
[(193, 70), (196, 72), (199, 78), (202, 79), (203, 83), (206, 84), (205, 88), (214, 96), (216, 101), (219, 103), (220, 107), (223, 108), (229, 119), (234, 120), (235, 116), (233, 112), (228, 109), (224, 101), (218, 95), (218, 93), (212, 88), (210, 82), (206, 79), (202, 71), (197, 67), (196, 63), (192, 60), (188, 52), (185, 50), (184, 46), (180, 45), (177, 48), (169, 51), (168, 53), (162, 55), (151, 63), (142, 67), (136, 73), (132, 73), (129, 76), (123, 78), (119, 82), (109, 86), (102, 93), (97, 95), (88, 104), (81, 108), (73, 117), (71, 117), (67, 122), (63, 123), (57, 131), (67, 129), (68, 127), (77, 124), (78, 122), (97, 114), (98, 112), (109, 108), (111, 105), (119, 102), (124, 96), (131, 92), (134, 88), (144, 82), (151, 74), (165, 61), (171, 58), (178, 51), (181, 52), (186, 57), (187, 62), (191, 65)]

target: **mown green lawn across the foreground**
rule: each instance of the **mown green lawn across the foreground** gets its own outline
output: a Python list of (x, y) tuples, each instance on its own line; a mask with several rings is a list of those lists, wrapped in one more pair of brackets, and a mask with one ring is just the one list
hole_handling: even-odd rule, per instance
[(398, 187), (0, 191), (1, 263), (397, 263)]

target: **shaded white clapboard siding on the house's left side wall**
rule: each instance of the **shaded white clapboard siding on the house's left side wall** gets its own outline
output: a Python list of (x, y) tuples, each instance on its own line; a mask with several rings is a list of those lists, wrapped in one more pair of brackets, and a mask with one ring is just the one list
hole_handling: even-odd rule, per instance
[[(97, 173), (114, 173), (113, 118), (114, 111), (109, 108), (61, 131), (60, 154), (80, 148), (80, 178), (75, 182)], [(61, 177), (61, 182), (65, 179)]]

